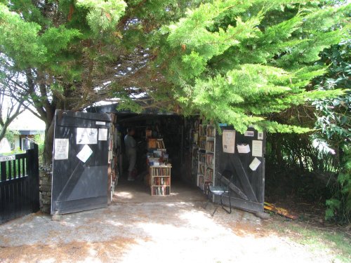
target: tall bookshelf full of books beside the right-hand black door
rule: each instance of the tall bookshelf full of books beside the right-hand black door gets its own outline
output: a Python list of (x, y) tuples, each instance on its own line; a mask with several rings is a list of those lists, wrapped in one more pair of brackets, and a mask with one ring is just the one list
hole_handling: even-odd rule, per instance
[(211, 124), (199, 125), (199, 159), (197, 166), (197, 186), (206, 191), (205, 185), (214, 184), (216, 129)]

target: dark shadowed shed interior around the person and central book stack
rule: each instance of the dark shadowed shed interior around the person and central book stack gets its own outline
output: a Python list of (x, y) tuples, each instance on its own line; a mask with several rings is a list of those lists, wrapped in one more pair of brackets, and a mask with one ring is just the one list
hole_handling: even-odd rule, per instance
[(117, 133), (117, 153), (119, 179), (127, 177), (128, 161), (125, 154), (124, 137), (128, 128), (135, 129), (133, 136), (137, 142), (137, 161), (136, 170), (139, 178), (147, 170), (147, 131), (151, 137), (162, 139), (168, 154), (169, 162), (172, 164), (172, 180), (190, 180), (191, 177), (191, 156), (190, 156), (190, 134), (187, 130), (187, 119), (178, 114), (168, 112), (157, 112), (147, 110), (141, 114), (117, 111), (117, 104), (104, 105), (88, 108), (88, 112), (98, 114), (113, 114), (115, 116), (114, 126)]

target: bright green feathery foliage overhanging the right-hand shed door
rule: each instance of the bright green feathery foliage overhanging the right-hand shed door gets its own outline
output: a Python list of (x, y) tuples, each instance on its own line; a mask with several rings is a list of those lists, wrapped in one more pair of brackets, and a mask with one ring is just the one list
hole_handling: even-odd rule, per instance
[(211, 1), (162, 29), (168, 48), (161, 48), (157, 65), (168, 65), (164, 74), (185, 112), (241, 132), (253, 125), (303, 133), (309, 129), (267, 116), (341, 94), (305, 87), (324, 74), (319, 53), (346, 34), (340, 25), (348, 13), (350, 5), (321, 8), (317, 1)]

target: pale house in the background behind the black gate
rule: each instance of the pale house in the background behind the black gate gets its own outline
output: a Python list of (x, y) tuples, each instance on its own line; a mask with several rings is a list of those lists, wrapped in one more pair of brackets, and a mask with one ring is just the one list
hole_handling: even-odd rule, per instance
[(37, 116), (29, 112), (28, 110), (22, 112), (8, 127), (8, 130), (15, 130), (18, 135), (14, 136), (14, 142), (9, 145), (6, 139), (0, 142), (0, 154), (8, 152), (8, 148), (22, 149), (25, 151), (29, 148), (29, 141), (33, 139), (35, 135), (44, 135), (45, 123), (41, 121)]

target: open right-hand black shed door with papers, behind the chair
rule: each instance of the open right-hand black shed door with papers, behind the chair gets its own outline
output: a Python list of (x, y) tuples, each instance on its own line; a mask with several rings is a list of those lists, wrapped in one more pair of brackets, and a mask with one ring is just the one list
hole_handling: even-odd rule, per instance
[[(221, 127), (221, 130), (234, 130)], [(260, 145), (262, 144), (262, 147)], [(248, 153), (239, 153), (239, 147), (250, 149)], [(259, 152), (262, 152), (259, 156)], [(223, 133), (216, 135), (216, 185), (225, 184), (225, 177), (232, 177), (230, 183), (232, 206), (253, 212), (263, 212), (265, 196), (265, 133), (249, 128), (246, 134), (235, 133), (234, 154), (223, 152)], [(259, 165), (256, 170), (254, 164)], [(250, 168), (250, 165), (253, 169)], [(218, 173), (224, 178), (219, 182)], [(225, 198), (224, 198), (225, 199)], [(229, 200), (225, 199), (225, 203)]]

